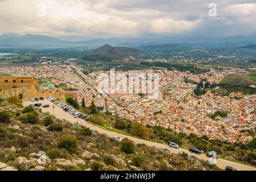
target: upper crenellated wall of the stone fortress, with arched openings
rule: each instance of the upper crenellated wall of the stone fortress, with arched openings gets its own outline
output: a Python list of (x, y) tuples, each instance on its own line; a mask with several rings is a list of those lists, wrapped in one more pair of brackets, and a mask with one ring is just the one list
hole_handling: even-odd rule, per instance
[(39, 90), (39, 81), (34, 77), (0, 77), (0, 90), (27, 88)]

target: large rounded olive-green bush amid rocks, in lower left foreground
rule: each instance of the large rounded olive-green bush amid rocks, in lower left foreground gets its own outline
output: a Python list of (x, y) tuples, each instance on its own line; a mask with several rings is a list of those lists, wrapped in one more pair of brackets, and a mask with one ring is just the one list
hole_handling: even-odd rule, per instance
[(77, 148), (78, 142), (75, 135), (64, 135), (58, 142), (59, 148), (65, 148), (67, 150), (73, 150)]

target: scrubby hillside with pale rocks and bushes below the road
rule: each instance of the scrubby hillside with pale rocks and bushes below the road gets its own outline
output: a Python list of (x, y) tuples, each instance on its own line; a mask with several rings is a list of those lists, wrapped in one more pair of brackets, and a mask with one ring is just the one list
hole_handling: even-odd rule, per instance
[(187, 154), (118, 142), (9, 101), (0, 101), (0, 171), (218, 169)]

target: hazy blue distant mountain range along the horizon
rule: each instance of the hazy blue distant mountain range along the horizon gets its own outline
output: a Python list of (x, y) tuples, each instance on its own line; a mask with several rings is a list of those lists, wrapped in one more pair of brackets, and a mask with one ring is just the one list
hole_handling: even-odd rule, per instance
[(118, 47), (142, 47), (160, 44), (191, 44), (209, 48), (232, 48), (256, 44), (256, 34), (250, 36), (216, 37), (163, 37), (163, 38), (110, 38), (91, 39), (80, 42), (61, 40), (45, 35), (4, 34), (0, 36), (1, 46), (102, 46), (110, 44)]

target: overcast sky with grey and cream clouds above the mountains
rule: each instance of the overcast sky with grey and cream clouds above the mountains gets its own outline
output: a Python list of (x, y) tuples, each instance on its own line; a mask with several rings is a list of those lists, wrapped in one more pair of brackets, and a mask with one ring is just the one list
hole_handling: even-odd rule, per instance
[[(217, 17), (209, 16), (209, 3), (216, 3)], [(251, 35), (256, 34), (256, 1), (0, 0), (0, 34), (6, 33), (85, 38)]]

